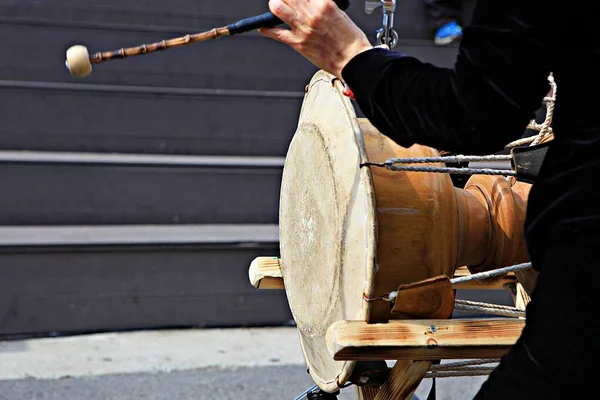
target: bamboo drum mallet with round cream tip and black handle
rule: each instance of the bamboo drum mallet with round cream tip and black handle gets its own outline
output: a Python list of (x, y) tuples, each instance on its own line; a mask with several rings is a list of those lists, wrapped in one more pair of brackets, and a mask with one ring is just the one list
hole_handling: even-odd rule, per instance
[[(346, 10), (350, 5), (350, 0), (334, 1), (341, 10)], [(65, 64), (69, 72), (71, 72), (71, 75), (77, 78), (85, 78), (92, 73), (92, 64), (100, 64), (105, 61), (153, 53), (155, 51), (167, 50), (173, 47), (185, 46), (197, 42), (205, 42), (222, 36), (238, 35), (258, 28), (276, 26), (282, 23), (283, 21), (273, 15), (273, 13), (268, 12), (255, 17), (245, 18), (222, 28), (214, 28), (206, 32), (185, 35), (174, 39), (162, 40), (151, 44), (142, 44), (140, 46), (123, 48), (120, 50), (100, 52), (91, 56), (85, 46), (75, 45), (67, 50), (67, 60)]]

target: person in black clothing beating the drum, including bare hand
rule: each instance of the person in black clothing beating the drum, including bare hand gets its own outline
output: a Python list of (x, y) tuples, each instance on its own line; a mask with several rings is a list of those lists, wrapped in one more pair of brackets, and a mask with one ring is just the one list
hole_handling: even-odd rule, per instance
[(600, 355), (600, 5), (479, 0), (453, 68), (373, 48), (329, 0), (271, 0), (289, 24), (261, 32), (342, 79), (399, 145), (491, 154), (518, 139), (558, 86), (554, 135), (528, 199), (539, 278), (517, 343), (476, 399), (573, 399)]

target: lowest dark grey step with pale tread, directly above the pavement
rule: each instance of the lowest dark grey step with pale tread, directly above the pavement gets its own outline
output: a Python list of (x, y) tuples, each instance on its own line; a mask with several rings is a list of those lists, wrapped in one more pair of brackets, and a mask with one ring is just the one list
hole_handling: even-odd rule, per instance
[(0, 228), (0, 335), (281, 325), (248, 266), (275, 225)]

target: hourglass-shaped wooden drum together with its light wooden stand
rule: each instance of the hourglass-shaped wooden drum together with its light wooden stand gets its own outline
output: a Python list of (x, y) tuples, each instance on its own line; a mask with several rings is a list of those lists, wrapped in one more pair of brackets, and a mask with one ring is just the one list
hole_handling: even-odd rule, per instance
[[(307, 86), (283, 170), (281, 254), (255, 259), (249, 277), (286, 291), (322, 393), (354, 384), (360, 399), (408, 399), (437, 361), (497, 359), (519, 337), (535, 282), (523, 264), (530, 184), (473, 175), (457, 188), (448, 173), (377, 167), (440, 154), (398, 146), (343, 89), (323, 71)], [(450, 319), (456, 289), (510, 289), (515, 307)]]

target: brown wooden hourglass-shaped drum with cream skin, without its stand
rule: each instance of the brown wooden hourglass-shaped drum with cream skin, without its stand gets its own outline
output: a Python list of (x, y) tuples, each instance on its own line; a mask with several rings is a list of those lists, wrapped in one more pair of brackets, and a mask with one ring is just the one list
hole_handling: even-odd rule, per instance
[(529, 185), (473, 176), (459, 189), (448, 174), (365, 166), (439, 153), (398, 146), (357, 118), (342, 90), (323, 71), (307, 86), (279, 214), (289, 306), (308, 370), (328, 392), (342, 387), (355, 367), (328, 353), (325, 336), (335, 321), (401, 318), (378, 300), (401, 284), (451, 277), (460, 266), (481, 271), (527, 261)]

